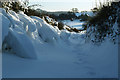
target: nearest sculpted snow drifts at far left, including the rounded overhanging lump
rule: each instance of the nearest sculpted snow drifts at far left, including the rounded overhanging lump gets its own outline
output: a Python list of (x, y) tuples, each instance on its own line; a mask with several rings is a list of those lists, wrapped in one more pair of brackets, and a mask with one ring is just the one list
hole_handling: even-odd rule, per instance
[(8, 11), (8, 13), (6, 13), (4, 9), (1, 10), (3, 10), (3, 12), (0, 13), (3, 17), (3, 41), (5, 36), (7, 36), (5, 42), (18, 56), (37, 58), (32, 40), (29, 36), (36, 30), (36, 25), (33, 19), (24, 14), (22, 15), (21, 13), (16, 14), (14, 11)]

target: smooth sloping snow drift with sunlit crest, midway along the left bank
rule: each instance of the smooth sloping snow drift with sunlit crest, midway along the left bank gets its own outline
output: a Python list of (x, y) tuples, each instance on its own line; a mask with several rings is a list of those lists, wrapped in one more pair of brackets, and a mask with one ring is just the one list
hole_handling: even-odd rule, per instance
[(38, 21), (36, 23), (38, 34), (45, 42), (51, 43), (60, 39), (58, 32), (53, 26), (47, 24), (45, 21), (41, 20), (40, 18), (37, 17), (32, 17), (32, 18)]

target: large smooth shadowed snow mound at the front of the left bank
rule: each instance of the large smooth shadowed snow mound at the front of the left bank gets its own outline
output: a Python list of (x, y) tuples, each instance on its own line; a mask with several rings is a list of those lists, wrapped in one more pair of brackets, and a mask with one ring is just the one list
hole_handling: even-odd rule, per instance
[(18, 56), (32, 59), (37, 58), (32, 41), (19, 27), (9, 29), (6, 41)]

